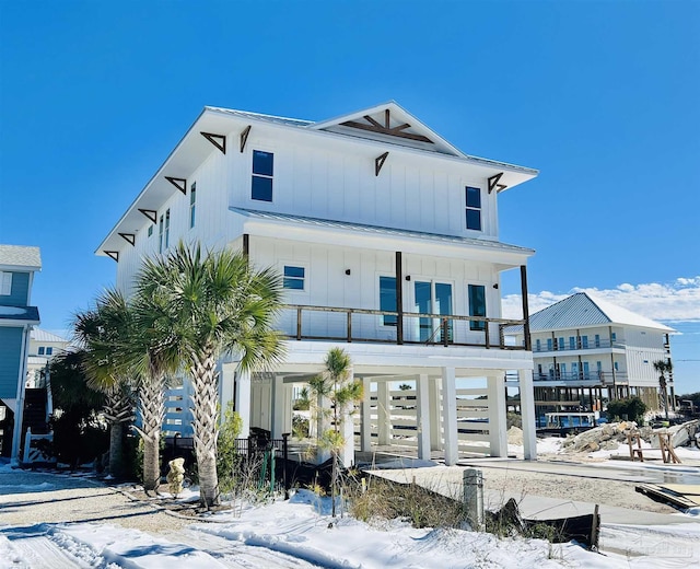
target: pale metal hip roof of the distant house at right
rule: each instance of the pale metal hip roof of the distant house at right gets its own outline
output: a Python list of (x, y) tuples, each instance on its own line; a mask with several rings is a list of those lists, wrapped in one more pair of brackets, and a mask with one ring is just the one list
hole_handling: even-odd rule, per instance
[[(576, 292), (551, 306), (532, 314), (529, 317), (530, 332), (550, 332), (572, 329), (585, 326), (621, 324), (663, 332), (675, 332), (673, 328), (660, 324), (627, 309), (622, 309), (600, 299), (593, 299), (586, 292)], [(509, 327), (509, 333), (520, 333), (523, 326)]]

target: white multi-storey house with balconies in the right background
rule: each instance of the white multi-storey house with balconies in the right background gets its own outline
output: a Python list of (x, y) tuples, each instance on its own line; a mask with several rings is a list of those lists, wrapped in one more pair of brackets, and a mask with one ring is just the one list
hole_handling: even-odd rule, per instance
[[(673, 328), (579, 292), (533, 314), (529, 330), (541, 426), (546, 411), (600, 410), (603, 397), (639, 396), (660, 408), (654, 362), (670, 361)], [(522, 326), (509, 332), (524, 342)], [(668, 395), (674, 402), (673, 379)]]

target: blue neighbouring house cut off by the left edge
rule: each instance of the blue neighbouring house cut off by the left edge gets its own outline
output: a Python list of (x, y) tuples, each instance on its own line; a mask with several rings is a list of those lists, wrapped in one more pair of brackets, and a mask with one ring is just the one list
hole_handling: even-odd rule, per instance
[(38, 247), (0, 245), (0, 451), (16, 463), (24, 413), (30, 333), (39, 324), (31, 306)]

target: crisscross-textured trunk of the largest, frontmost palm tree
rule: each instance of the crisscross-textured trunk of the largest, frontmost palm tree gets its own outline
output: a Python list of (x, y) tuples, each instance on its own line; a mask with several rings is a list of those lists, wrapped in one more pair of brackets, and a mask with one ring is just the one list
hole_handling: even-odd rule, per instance
[(217, 475), (217, 439), (219, 437), (219, 385), (213, 351), (203, 356), (194, 355), (192, 380), (195, 384), (194, 429), (195, 452), (199, 472), (199, 499), (203, 507), (220, 503), (219, 477)]

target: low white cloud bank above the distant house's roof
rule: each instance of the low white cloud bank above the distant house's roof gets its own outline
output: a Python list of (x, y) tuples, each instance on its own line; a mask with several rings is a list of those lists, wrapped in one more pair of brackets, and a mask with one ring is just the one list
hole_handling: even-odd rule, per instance
[[(682, 277), (670, 283), (625, 282), (615, 289), (576, 287), (565, 293), (545, 290), (527, 295), (529, 312), (533, 314), (540, 311), (574, 292), (590, 292), (594, 297), (658, 322), (700, 322), (700, 277)], [(504, 297), (503, 317), (520, 318), (521, 306), (520, 294)]]

